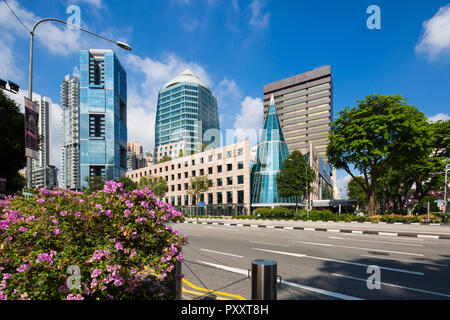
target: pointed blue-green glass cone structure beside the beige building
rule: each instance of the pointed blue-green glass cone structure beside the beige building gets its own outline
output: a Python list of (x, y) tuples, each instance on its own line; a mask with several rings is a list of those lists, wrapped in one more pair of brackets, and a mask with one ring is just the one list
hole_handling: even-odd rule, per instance
[(288, 157), (289, 150), (284, 141), (272, 95), (256, 152), (256, 163), (252, 168), (252, 207), (295, 204), (294, 197), (280, 197), (277, 188), (276, 176)]

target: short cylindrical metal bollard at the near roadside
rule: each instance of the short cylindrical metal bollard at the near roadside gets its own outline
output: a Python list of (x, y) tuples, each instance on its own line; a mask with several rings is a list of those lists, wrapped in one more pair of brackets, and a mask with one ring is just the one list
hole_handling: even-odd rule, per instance
[(252, 261), (252, 300), (277, 300), (277, 262)]

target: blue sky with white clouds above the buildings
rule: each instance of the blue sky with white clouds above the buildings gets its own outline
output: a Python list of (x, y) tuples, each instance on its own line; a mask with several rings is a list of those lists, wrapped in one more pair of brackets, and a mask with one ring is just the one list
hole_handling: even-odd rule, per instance
[[(113, 49), (127, 71), (128, 141), (154, 147), (157, 94), (191, 69), (218, 100), (221, 130), (263, 126), (262, 87), (331, 65), (333, 117), (355, 100), (402, 94), (431, 120), (450, 114), (448, 1), (6, 0), (31, 29), (42, 18), (75, 21), (132, 51), (63, 24), (36, 30), (33, 92), (52, 98), (50, 163), (61, 168), (60, 84), (79, 51)], [(369, 10), (371, 5), (379, 11)], [(379, 20), (372, 20), (378, 13)], [(368, 22), (369, 20), (369, 22)], [(368, 25), (379, 22), (379, 28)], [(0, 78), (27, 95), (29, 31), (0, 0)], [(233, 141), (223, 141), (224, 144)], [(350, 176), (339, 171), (346, 194)]]

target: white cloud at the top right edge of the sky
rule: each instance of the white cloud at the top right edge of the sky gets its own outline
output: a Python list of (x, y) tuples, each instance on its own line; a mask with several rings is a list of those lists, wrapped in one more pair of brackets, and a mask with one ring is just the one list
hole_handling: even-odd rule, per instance
[(439, 11), (423, 24), (423, 35), (416, 45), (416, 52), (426, 54), (430, 60), (436, 59), (441, 53), (450, 52), (450, 4), (441, 7)]

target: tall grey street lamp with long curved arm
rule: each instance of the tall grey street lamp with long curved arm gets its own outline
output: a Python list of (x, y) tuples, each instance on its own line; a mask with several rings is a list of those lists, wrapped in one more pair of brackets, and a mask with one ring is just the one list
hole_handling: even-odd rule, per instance
[[(116, 44), (118, 47), (120, 47), (122, 49), (131, 51), (131, 47), (128, 44), (126, 44), (125, 42), (114, 41), (114, 40), (105, 38), (105, 37), (103, 37), (101, 35), (93, 33), (93, 32), (91, 32), (89, 30), (86, 30), (86, 29), (81, 28), (79, 26), (76, 26), (74, 24), (67, 23), (67, 22), (65, 22), (63, 20), (55, 19), (55, 18), (45, 18), (45, 19), (39, 20), (38, 22), (36, 22), (34, 24), (33, 29), (30, 31), (30, 62), (29, 62), (29, 68), (28, 68), (28, 99), (30, 99), (31, 101), (33, 100), (33, 43), (34, 43), (34, 33), (35, 33), (35, 30), (36, 30), (37, 26), (39, 24), (41, 24), (42, 22), (45, 22), (45, 21), (56, 21), (56, 22), (64, 23), (64, 24), (66, 24), (66, 25), (68, 25), (68, 26), (70, 26), (72, 28), (75, 28), (75, 29), (87, 32), (87, 33), (89, 33), (89, 34), (91, 34), (93, 36), (96, 36), (96, 37), (101, 38), (103, 40), (112, 42), (112, 43)], [(31, 158), (27, 158), (27, 188), (31, 188), (31, 186), (32, 186), (32, 184), (31, 184), (32, 170), (33, 170), (33, 168), (32, 168), (32, 160), (31, 160)]]

